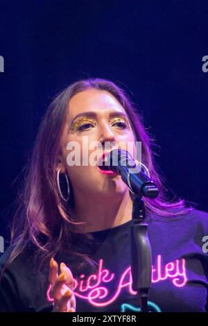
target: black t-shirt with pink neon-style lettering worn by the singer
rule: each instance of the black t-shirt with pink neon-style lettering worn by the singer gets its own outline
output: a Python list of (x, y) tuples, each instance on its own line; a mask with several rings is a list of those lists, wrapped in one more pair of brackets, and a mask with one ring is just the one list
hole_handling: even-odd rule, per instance
[[(177, 217), (148, 215), (148, 237), (153, 255), (150, 311), (208, 311), (208, 214), (196, 209)], [(73, 273), (76, 311), (139, 311), (132, 291), (130, 237), (132, 221), (108, 230), (92, 232), (92, 258), (98, 262), (81, 274)], [(8, 256), (0, 259), (3, 266)], [(48, 273), (39, 277), (31, 252), (24, 252), (3, 275), (0, 311), (51, 311), (46, 298)], [(72, 260), (71, 260), (72, 259)], [(42, 282), (43, 281), (43, 282)]]

